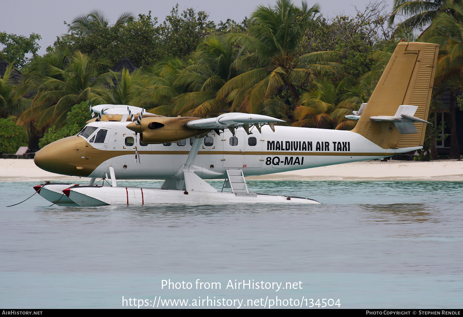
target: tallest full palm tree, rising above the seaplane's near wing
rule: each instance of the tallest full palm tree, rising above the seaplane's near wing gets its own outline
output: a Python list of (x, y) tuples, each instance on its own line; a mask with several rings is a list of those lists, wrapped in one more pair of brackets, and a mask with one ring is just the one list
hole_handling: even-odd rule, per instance
[(299, 104), (301, 88), (313, 82), (316, 74), (332, 66), (331, 54), (314, 52), (297, 57), (295, 50), (307, 25), (317, 19), (319, 6), (310, 9), (303, 2), (294, 6), (289, 0), (278, 0), (275, 7), (259, 6), (253, 13), (249, 34), (234, 34), (235, 40), (247, 51), (240, 65), (261, 65), (236, 76), (219, 90), (217, 100), (232, 99), (232, 111), (258, 113), (263, 102), (275, 95), (289, 92), (292, 105), (285, 117), (289, 118), (294, 105)]

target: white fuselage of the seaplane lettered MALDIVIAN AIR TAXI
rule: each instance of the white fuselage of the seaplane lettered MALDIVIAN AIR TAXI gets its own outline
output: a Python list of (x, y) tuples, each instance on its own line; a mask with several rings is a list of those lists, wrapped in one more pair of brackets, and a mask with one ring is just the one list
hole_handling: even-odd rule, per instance
[[(141, 146), (139, 135), (136, 136), (126, 125), (127, 122), (88, 124), (109, 130), (103, 143), (91, 142), (92, 136), (99, 129), (87, 138), (90, 146), (106, 152), (105, 157), (109, 157), (89, 177), (104, 177), (110, 166), (114, 168), (118, 179), (174, 177), (188, 157), (190, 139), (179, 143)], [(228, 130), (220, 135), (214, 131), (209, 132), (202, 139), (194, 161), (195, 165), (204, 168), (203, 172), (197, 172), (198, 176), (203, 179), (224, 178), (227, 169), (242, 169), (244, 176), (271, 174), (380, 159), (421, 148), (385, 150), (357, 133), (340, 130), (277, 126), (274, 133), (268, 126), (264, 126), (262, 133), (256, 128), (251, 132), (247, 135), (243, 128), (238, 128), (236, 137)], [(137, 144), (138, 159), (135, 157), (136, 146), (131, 144), (130, 138)], [(113, 155), (110, 155), (111, 152)]]

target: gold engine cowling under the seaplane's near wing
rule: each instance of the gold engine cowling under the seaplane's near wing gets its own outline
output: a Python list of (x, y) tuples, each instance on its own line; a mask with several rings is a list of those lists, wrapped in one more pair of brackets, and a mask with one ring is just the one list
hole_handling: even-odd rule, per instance
[(206, 130), (188, 129), (183, 127), (187, 121), (198, 120), (194, 117), (159, 117), (143, 118), (140, 125), (134, 121), (127, 128), (140, 133), (140, 139), (145, 144), (158, 144), (188, 139)]

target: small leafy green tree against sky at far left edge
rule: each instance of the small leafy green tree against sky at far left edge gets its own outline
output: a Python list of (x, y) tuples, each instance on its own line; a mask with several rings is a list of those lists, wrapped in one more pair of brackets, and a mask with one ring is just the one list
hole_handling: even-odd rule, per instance
[(41, 39), (40, 35), (35, 33), (26, 38), (21, 35), (0, 32), (0, 44), (5, 45), (5, 48), (0, 51), (0, 60), (5, 59), (8, 63), (14, 63), (17, 68), (23, 67), (31, 61), (31, 58), (25, 57), (26, 54), (31, 53), (33, 57), (37, 55), (40, 46), (36, 41), (39, 39)]

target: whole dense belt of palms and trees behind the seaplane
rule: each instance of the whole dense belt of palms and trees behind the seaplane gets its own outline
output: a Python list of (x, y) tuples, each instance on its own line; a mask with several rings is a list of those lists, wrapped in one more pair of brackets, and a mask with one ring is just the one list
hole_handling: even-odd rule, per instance
[[(277, 0), (249, 19), (220, 23), (178, 6), (162, 23), (151, 12), (122, 13), (111, 23), (92, 11), (67, 25), (68, 34), (44, 56), (37, 55), (39, 35), (0, 33), (0, 59), (9, 63), (0, 80), (0, 117), (25, 129), (31, 151), (77, 132), (89, 118), (88, 101), (162, 115), (253, 112), (293, 126), (350, 129), (355, 121), (344, 115), (368, 101), (401, 38), (441, 45), (435, 95), (454, 96), (454, 119), (463, 85), (460, 0), (395, 0), (390, 14), (373, 3), (355, 17), (332, 19), (318, 5)], [(138, 69), (111, 70), (123, 57)]]

